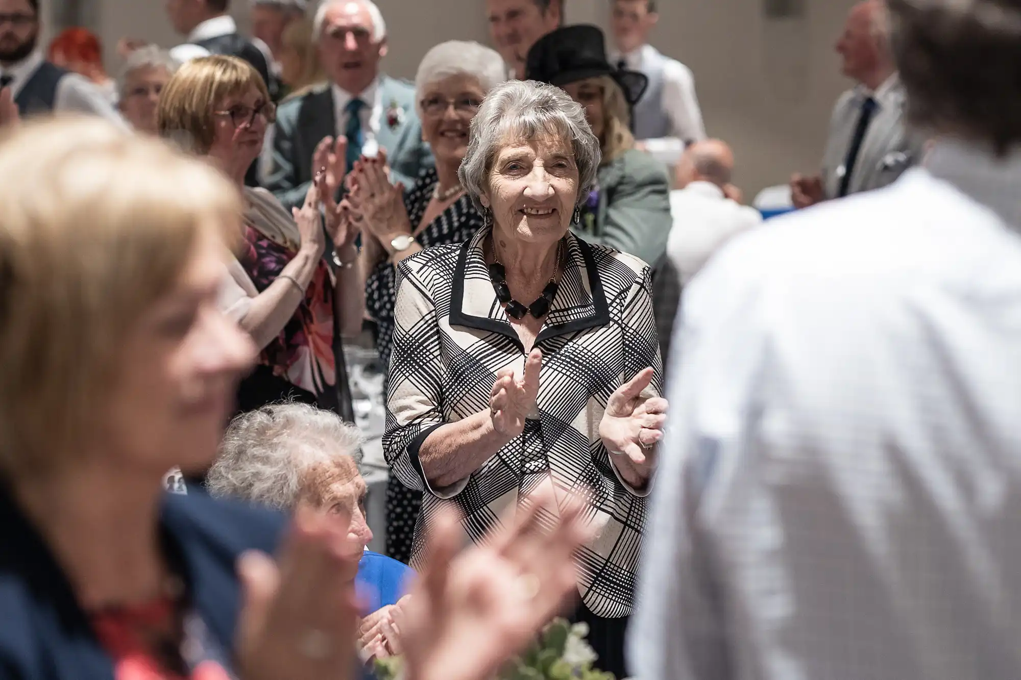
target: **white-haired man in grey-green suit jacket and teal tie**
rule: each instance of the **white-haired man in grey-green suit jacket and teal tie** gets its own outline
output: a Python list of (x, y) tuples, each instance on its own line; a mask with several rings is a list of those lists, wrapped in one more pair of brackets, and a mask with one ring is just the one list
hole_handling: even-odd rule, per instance
[(422, 141), (415, 88), (379, 72), (387, 52), (379, 8), (371, 0), (326, 0), (313, 38), (331, 83), (278, 110), (266, 188), (285, 206), (300, 206), (318, 169), (311, 166), (317, 145), (341, 136), (348, 141), (348, 168), (359, 154), (386, 149), (391, 179), (410, 187), (433, 158)]

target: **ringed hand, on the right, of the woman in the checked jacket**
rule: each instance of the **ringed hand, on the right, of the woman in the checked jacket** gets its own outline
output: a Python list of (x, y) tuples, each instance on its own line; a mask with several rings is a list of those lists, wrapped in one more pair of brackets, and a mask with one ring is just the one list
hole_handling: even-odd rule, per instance
[(641, 396), (642, 390), (652, 382), (652, 369), (645, 369), (617, 388), (599, 423), (599, 437), (606, 449), (626, 455), (640, 468), (651, 466), (649, 455), (663, 439), (663, 426), (667, 421), (666, 399)]

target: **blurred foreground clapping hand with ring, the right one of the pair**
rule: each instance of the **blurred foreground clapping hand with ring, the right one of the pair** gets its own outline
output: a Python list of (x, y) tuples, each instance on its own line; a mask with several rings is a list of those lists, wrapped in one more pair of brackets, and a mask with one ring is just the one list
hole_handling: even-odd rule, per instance
[(577, 592), (572, 555), (590, 535), (582, 503), (572, 498), (557, 518), (542, 509), (555, 503), (551, 488), (530, 500), (459, 555), (456, 515), (436, 518), (426, 568), (397, 617), (407, 680), (492, 678)]

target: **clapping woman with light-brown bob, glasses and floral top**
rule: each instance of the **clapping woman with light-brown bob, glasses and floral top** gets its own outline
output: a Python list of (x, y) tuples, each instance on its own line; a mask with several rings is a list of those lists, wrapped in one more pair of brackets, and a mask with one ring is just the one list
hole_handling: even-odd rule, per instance
[(161, 136), (206, 156), (244, 196), (244, 224), (221, 292), (222, 309), (261, 350), (254, 373), (242, 381), (239, 409), (292, 398), (337, 410), (335, 336), (359, 333), (364, 314), (357, 230), (334, 202), (345, 150), (343, 142), (323, 140), (313, 156), (317, 181), (304, 205), (288, 213), (273, 194), (244, 182), (275, 119), (258, 72), (218, 55), (182, 66), (157, 112)]

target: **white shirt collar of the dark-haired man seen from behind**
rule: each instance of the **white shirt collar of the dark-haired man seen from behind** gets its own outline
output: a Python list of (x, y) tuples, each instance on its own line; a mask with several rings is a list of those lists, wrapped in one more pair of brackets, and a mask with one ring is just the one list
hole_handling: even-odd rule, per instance
[(1021, 231), (1021, 202), (1017, 199), (1017, 188), (1021, 186), (1021, 147), (1000, 158), (981, 144), (940, 138), (922, 165), (932, 177), (954, 185)]

